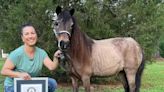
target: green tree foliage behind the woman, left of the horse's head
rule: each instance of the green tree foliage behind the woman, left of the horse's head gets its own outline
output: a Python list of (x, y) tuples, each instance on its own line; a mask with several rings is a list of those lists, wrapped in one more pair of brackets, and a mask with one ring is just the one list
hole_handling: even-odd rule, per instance
[[(45, 13), (47, 9), (54, 8), (52, 1), (9, 2), (10, 0), (1, 1), (3, 3), (1, 8), (3, 10), (3, 14), (1, 13), (2, 24), (0, 25), (0, 41), (3, 42), (1, 47), (11, 51), (20, 46), (22, 44), (19, 36), (20, 26), (24, 23), (32, 23), (39, 33), (38, 45), (46, 49), (49, 54), (54, 52), (56, 44), (54, 44), (54, 35), (51, 31), (51, 20)], [(52, 49), (54, 50), (52, 51)]]

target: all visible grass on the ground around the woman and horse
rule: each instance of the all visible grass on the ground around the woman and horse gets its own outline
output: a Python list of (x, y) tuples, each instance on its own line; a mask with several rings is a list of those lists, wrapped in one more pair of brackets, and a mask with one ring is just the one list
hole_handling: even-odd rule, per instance
[[(4, 61), (0, 59), (0, 69)], [(4, 76), (0, 75), (0, 81), (4, 80)], [(155, 62), (146, 64), (143, 76), (141, 92), (163, 92), (164, 91), (164, 62)], [(124, 92), (122, 85), (92, 85), (94, 92)], [(3, 83), (0, 83), (0, 92), (3, 92)], [(57, 92), (72, 92), (71, 86), (59, 86)], [(80, 92), (84, 92), (84, 88), (80, 87)]]

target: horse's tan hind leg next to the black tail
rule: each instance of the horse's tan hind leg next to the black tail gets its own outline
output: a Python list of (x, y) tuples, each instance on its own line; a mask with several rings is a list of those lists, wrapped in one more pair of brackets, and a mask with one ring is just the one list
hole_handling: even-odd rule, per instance
[(126, 77), (129, 84), (130, 92), (135, 92), (136, 84), (135, 84), (135, 77), (136, 77), (136, 70), (135, 69), (125, 69)]

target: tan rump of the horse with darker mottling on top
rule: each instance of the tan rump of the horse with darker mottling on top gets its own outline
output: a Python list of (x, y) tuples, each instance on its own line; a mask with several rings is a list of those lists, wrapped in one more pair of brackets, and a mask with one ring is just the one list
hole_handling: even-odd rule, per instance
[(124, 58), (124, 67), (138, 68), (143, 58), (140, 45), (131, 37), (112, 38), (111, 40)]

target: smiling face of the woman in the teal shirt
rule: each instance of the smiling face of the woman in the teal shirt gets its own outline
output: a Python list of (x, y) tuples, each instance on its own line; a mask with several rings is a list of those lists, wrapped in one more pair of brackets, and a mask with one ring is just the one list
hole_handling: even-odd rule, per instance
[(26, 26), (22, 29), (22, 41), (25, 45), (35, 46), (37, 42), (37, 34), (32, 26)]

